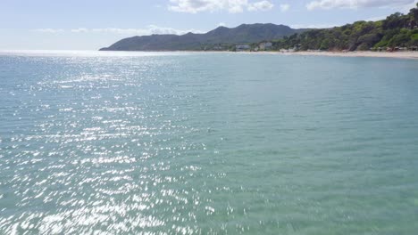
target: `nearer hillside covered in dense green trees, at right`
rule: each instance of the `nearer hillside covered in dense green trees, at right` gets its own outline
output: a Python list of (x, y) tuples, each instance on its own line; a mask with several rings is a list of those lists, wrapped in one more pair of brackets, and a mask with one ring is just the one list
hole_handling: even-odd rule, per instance
[(386, 20), (357, 21), (342, 27), (313, 29), (273, 42), (273, 48), (364, 51), (379, 47), (418, 45), (418, 4), (408, 14), (395, 13)]

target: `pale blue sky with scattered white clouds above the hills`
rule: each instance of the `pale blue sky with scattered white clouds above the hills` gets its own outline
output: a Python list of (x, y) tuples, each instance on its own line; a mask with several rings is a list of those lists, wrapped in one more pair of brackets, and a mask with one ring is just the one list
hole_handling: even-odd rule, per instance
[(124, 37), (243, 23), (329, 28), (408, 12), (418, 0), (0, 0), (0, 50), (97, 50)]

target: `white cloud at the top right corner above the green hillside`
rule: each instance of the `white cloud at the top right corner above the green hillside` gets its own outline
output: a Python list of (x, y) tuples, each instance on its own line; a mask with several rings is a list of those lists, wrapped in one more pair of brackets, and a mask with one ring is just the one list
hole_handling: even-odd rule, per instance
[(362, 7), (400, 7), (414, 3), (415, 0), (317, 0), (306, 4), (308, 10)]

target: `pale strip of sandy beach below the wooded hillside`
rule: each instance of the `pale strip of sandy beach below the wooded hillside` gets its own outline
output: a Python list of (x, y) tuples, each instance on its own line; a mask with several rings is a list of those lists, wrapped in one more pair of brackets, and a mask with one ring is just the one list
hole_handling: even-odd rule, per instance
[(344, 57), (383, 57), (383, 58), (398, 58), (398, 59), (418, 59), (418, 52), (349, 52), (349, 53), (333, 53), (333, 52), (297, 52), (297, 53), (284, 53), (284, 54), (296, 54), (296, 55), (310, 55), (310, 56), (344, 56)]

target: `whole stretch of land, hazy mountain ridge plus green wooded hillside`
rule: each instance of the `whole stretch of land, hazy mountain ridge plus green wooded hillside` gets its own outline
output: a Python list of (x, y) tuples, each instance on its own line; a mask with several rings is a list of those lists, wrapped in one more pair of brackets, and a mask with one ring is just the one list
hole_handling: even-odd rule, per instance
[[(265, 43), (271, 45), (265, 46)], [(219, 27), (205, 34), (133, 36), (100, 51), (395, 51), (418, 50), (418, 4), (385, 20), (356, 21), (334, 28), (275, 24)]]

